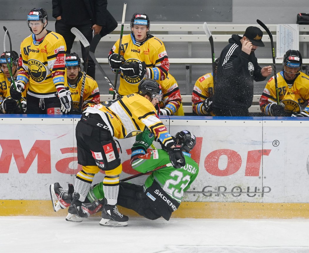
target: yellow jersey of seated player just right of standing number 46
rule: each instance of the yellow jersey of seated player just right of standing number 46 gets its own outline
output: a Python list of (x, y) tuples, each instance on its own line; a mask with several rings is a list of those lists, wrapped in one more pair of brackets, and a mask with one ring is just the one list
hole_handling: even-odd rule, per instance
[[(70, 88), (74, 110), (79, 108), (82, 82), (83, 82), (83, 73), (79, 72), (77, 84), (70, 84), (69, 82), (67, 82), (66, 84)], [(82, 109), (88, 107), (89, 104), (99, 104), (99, 103), (100, 103), (100, 92), (98, 84), (92, 77), (86, 75)]]

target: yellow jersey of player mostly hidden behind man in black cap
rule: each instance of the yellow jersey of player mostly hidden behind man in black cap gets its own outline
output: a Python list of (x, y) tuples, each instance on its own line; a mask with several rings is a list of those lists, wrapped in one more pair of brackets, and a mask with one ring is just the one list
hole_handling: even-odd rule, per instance
[(210, 115), (203, 108), (203, 101), (214, 94), (214, 79), (212, 73), (202, 75), (194, 84), (192, 92), (193, 112), (197, 115)]

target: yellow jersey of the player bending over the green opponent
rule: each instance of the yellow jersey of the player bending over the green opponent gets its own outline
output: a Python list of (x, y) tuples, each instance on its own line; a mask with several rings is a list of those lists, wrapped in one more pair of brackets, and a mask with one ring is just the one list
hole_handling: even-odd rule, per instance
[(97, 105), (91, 104), (84, 113), (87, 112), (99, 114), (112, 136), (118, 139), (137, 135), (146, 126), (163, 145), (174, 145), (171, 135), (155, 113), (155, 107), (137, 93)]

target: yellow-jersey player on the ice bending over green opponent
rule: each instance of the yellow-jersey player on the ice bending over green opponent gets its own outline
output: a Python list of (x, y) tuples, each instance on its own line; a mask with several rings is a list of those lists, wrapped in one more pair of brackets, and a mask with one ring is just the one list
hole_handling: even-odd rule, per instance
[[(126, 226), (128, 217), (120, 214), (116, 203), (119, 175), (122, 165), (113, 137), (123, 139), (150, 129), (169, 153), (171, 163), (179, 168), (185, 165), (182, 147), (175, 145), (166, 127), (155, 113), (154, 105), (162, 98), (160, 85), (151, 79), (143, 80), (138, 93), (120, 97), (102, 104), (90, 105), (76, 125), (77, 158), (83, 169), (77, 173), (73, 201), (66, 220), (78, 221), (80, 208), (87, 197), (91, 183), (100, 169), (105, 171), (103, 190), (105, 203), (102, 218), (107, 226)], [(136, 150), (139, 154), (142, 151)]]

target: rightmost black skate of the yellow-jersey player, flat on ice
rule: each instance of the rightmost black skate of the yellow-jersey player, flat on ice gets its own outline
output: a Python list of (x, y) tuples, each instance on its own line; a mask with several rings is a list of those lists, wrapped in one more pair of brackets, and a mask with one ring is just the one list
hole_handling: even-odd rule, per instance
[(115, 205), (108, 205), (106, 198), (101, 216), (100, 225), (102, 226), (128, 226), (129, 217), (119, 213)]

